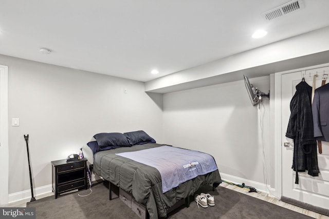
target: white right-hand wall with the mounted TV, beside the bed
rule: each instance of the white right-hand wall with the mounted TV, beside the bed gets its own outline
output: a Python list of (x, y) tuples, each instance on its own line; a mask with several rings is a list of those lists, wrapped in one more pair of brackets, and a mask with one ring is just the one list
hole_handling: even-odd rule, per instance
[[(270, 90), (269, 76), (250, 82), (265, 93)], [(273, 188), (269, 121), (268, 98), (262, 110), (252, 106), (243, 80), (163, 94), (166, 144), (210, 153), (221, 173), (261, 184), (264, 144), (267, 183)]]

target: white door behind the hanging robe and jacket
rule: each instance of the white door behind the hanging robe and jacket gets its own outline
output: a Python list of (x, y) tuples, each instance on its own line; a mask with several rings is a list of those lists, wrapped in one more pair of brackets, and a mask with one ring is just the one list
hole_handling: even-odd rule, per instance
[(312, 86), (313, 75), (318, 73), (316, 85), (321, 86), (323, 71), (329, 71), (329, 67), (281, 75), (282, 196), (329, 209), (329, 143), (322, 142), (322, 154), (318, 153), (319, 176), (310, 176), (307, 171), (299, 172), (299, 184), (295, 184), (296, 172), (291, 169), (294, 155), (293, 141), (285, 137), (290, 117), (290, 101), (296, 92), (296, 85), (301, 82), (304, 75), (305, 82)]

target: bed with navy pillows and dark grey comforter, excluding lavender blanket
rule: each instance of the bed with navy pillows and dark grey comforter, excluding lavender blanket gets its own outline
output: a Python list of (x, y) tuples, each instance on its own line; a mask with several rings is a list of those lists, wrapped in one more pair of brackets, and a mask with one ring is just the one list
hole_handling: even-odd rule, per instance
[[(169, 188), (164, 192), (162, 189), (162, 172), (160, 173), (160, 170), (150, 165), (134, 161), (131, 158), (124, 157), (122, 154), (144, 152), (148, 151), (147, 149), (170, 149), (171, 146), (156, 144), (154, 139), (143, 131), (123, 133), (127, 138), (127, 142), (125, 142), (121, 133), (112, 135), (110, 133), (100, 134), (101, 135), (98, 134), (94, 136), (97, 141), (88, 143), (89, 148), (93, 151), (93, 159), (87, 157), (88, 161), (90, 159), (93, 160), (90, 162), (93, 163), (93, 172), (103, 177), (110, 185), (113, 184), (127, 193), (131, 193), (138, 203), (146, 206), (151, 219), (167, 217), (167, 212), (172, 206), (194, 195), (195, 191), (202, 185), (213, 185), (213, 187), (217, 187), (222, 182), (220, 173), (216, 168), (214, 171), (197, 175), (186, 182), (179, 182), (177, 186)], [(113, 138), (113, 136), (120, 136), (120, 141), (122, 140), (124, 143), (121, 144), (118, 139), (111, 139), (112, 142), (109, 143), (109, 137)], [(104, 141), (107, 142), (104, 143)], [(100, 150), (95, 150), (95, 148), (93, 149), (93, 147), (90, 147), (92, 144), (98, 145)], [(118, 147), (120, 144), (121, 146)], [(103, 150), (104, 147), (112, 148)], [(174, 148), (176, 149), (176, 147), (172, 147), (172, 149)], [(191, 151), (187, 149), (179, 150)], [(205, 154), (201, 152), (198, 153)], [(87, 152), (87, 154), (90, 153)], [(213, 157), (211, 158), (213, 160)], [(176, 162), (173, 161), (173, 163)]]

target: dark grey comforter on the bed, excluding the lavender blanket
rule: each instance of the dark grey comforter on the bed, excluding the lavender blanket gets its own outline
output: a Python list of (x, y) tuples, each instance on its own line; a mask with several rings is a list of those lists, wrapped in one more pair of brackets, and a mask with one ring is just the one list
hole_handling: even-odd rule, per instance
[(163, 145), (144, 144), (99, 151), (95, 153), (93, 162), (96, 174), (126, 192), (132, 193), (137, 202), (147, 207), (151, 219), (167, 217), (167, 211), (170, 207), (189, 195), (193, 195), (200, 186), (205, 184), (217, 186), (222, 182), (219, 171), (215, 170), (162, 193), (161, 175), (156, 168), (116, 155), (116, 153), (159, 146)]

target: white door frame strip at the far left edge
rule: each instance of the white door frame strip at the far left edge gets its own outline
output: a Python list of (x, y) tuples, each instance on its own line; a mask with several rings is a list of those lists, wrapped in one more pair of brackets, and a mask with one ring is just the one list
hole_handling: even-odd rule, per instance
[(0, 205), (8, 204), (8, 66), (0, 65)]

